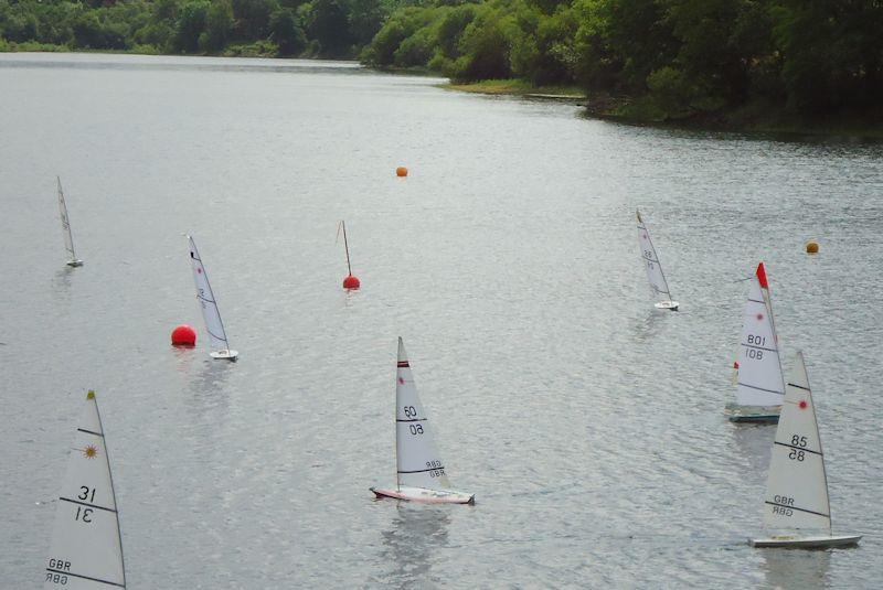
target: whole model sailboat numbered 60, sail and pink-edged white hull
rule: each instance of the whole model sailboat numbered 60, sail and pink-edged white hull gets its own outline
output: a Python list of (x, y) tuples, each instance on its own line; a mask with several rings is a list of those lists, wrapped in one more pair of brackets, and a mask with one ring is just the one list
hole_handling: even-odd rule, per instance
[(371, 491), (377, 497), (394, 497), (437, 504), (474, 504), (475, 494), (451, 487), (445, 463), (435, 447), (429, 420), (423, 409), (405, 346), (398, 339), (395, 374), (395, 490)]

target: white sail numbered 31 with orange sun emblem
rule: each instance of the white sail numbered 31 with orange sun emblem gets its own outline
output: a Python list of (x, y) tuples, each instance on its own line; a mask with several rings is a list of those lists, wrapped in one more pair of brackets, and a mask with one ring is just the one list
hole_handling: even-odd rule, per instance
[(93, 391), (67, 460), (43, 588), (126, 588), (110, 461)]

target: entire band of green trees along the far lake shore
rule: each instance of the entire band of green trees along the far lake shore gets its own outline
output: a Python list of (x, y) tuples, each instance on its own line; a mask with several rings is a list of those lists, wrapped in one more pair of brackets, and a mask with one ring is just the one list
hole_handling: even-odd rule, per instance
[(2, 51), (360, 58), (649, 121), (883, 121), (880, 0), (0, 0)]

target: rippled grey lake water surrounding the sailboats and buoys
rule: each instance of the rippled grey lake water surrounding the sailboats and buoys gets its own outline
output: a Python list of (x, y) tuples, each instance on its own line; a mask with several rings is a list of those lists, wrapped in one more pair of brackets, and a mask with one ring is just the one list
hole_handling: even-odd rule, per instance
[[(130, 588), (879, 587), (883, 146), (621, 126), (439, 82), (0, 56), (2, 586), (42, 583), (94, 388)], [(636, 208), (679, 313), (652, 307)], [(238, 363), (208, 356), (182, 233)], [(857, 549), (745, 543), (775, 428), (723, 409), (758, 260)], [(195, 350), (169, 345), (181, 322)], [(395, 481), (398, 335), (475, 506), (369, 492)]]

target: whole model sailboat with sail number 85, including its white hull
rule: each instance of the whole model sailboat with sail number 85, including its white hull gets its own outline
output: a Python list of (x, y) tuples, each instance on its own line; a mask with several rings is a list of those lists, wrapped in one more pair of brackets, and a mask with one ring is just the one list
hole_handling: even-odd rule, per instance
[(819, 425), (804, 364), (797, 353), (785, 390), (769, 459), (764, 525), (777, 534), (751, 539), (754, 547), (827, 548), (857, 545), (860, 535), (833, 535)]

